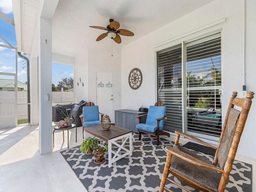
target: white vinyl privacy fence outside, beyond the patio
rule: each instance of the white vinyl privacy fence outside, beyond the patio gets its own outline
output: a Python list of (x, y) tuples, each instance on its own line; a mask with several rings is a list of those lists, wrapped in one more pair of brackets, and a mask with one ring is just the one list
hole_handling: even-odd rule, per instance
[[(18, 91), (18, 120), (28, 118), (28, 92)], [(74, 102), (74, 92), (52, 92), (52, 105)], [(0, 91), (0, 117), (14, 116), (14, 91)]]

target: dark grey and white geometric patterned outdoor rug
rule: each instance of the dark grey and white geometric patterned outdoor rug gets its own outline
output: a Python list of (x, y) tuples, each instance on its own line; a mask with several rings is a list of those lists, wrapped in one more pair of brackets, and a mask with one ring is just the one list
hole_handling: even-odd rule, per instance
[[(92, 155), (81, 153), (80, 146), (60, 152), (72, 168), (80, 182), (88, 192), (157, 192), (159, 190), (164, 164), (166, 161), (165, 146), (173, 143), (161, 140), (156, 146), (156, 137), (133, 133), (132, 156), (126, 156), (108, 168), (108, 155), (105, 153), (106, 162), (97, 165)], [(128, 142), (127, 142), (128, 147)], [(198, 152), (203, 155), (203, 153)], [(210, 155), (204, 155), (212, 159)], [(252, 191), (252, 165), (234, 161), (230, 172), (227, 192)], [(175, 179), (176, 182), (180, 183)], [(186, 186), (185, 184), (182, 184)], [(167, 184), (175, 192), (183, 192), (173, 184)], [(188, 187), (188, 186), (187, 186)], [(188, 189), (198, 192), (190, 187)]]

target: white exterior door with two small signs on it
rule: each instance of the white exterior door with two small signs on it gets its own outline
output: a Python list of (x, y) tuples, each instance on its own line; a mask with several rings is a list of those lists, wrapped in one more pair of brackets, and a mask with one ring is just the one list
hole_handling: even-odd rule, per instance
[(97, 72), (97, 105), (99, 112), (110, 117), (114, 123), (113, 72)]

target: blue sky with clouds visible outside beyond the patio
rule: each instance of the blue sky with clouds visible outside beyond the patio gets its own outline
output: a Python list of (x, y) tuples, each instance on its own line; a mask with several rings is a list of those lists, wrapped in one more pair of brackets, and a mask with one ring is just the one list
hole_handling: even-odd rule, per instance
[[(13, 19), (12, 0), (0, 0), (0, 10)], [(16, 47), (15, 28), (2, 18), (0, 18), (0, 35)], [(0, 38), (0, 44), (5, 44), (4, 40)], [(25, 55), (29, 58), (29, 55)], [(25, 83), (27, 81), (26, 60), (18, 56), (18, 81)], [(15, 73), (15, 50), (4, 48), (0, 46), (0, 72)], [(74, 67), (64, 64), (52, 64), (52, 83), (57, 86), (62, 78), (74, 78)], [(0, 78), (12, 79), (12, 76), (0, 75)]]

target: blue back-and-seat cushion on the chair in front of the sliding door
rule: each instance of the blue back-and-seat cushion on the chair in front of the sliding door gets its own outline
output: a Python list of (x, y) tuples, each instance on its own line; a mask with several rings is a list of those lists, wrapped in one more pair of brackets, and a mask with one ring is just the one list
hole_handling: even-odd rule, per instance
[[(166, 106), (149, 106), (148, 116), (146, 119), (146, 124), (140, 123), (136, 126), (137, 129), (155, 132), (157, 129), (156, 119), (164, 117), (166, 114)], [(164, 119), (160, 121), (159, 130), (164, 129)]]

